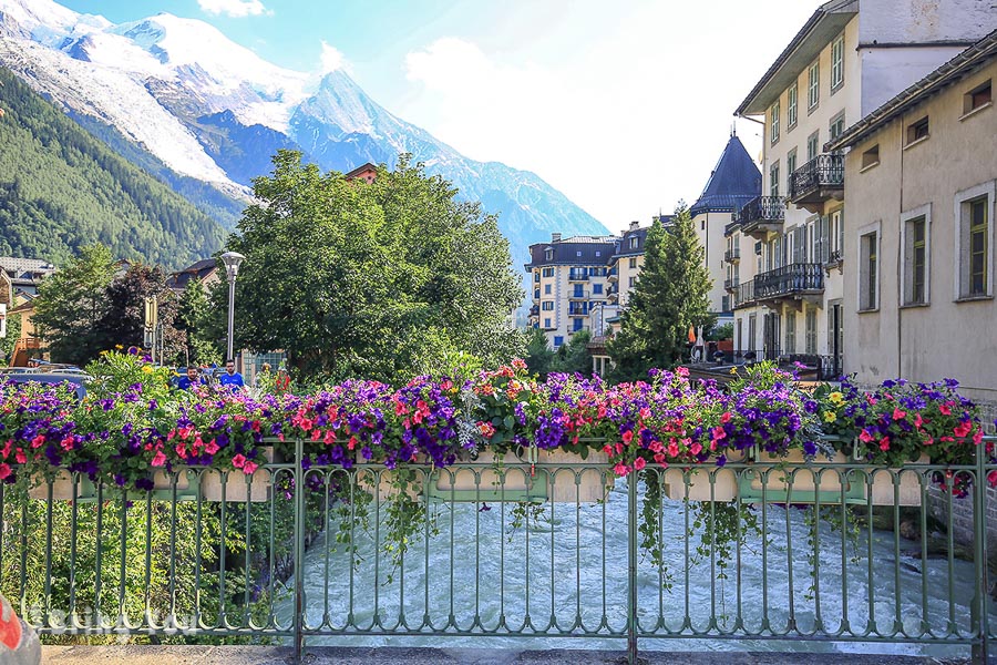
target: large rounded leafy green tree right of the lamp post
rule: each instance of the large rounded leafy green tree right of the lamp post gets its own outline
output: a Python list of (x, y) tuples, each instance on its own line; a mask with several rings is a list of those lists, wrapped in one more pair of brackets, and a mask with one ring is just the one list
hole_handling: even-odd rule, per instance
[[(508, 320), (520, 280), (480, 205), (404, 155), (370, 185), (295, 152), (274, 164), (229, 242), (246, 256), (238, 346), (286, 349), (305, 375), (384, 380), (435, 370), (455, 351), (497, 365), (522, 350)], [(218, 321), (227, 289), (210, 301)]]

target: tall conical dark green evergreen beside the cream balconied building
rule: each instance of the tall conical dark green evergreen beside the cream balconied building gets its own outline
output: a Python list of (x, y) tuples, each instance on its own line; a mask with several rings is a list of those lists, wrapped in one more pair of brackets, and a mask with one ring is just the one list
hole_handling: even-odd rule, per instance
[(640, 279), (620, 315), (620, 331), (607, 349), (613, 378), (645, 378), (652, 367), (671, 368), (687, 347), (690, 326), (709, 321), (711, 280), (703, 249), (683, 204), (666, 229), (655, 221), (647, 233)]

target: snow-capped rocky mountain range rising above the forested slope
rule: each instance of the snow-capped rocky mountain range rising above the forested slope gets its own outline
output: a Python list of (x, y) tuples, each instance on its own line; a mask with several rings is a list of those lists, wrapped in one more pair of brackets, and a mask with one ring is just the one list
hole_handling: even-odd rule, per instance
[(464, 157), (388, 112), (345, 72), (311, 80), (203, 21), (161, 13), (113, 24), (52, 0), (0, 0), (0, 65), (74, 117), (111, 125), (177, 174), (232, 195), (246, 196), (281, 147), (338, 171), (393, 165), (409, 152), (500, 213), (516, 263), (552, 231), (606, 233), (536, 175)]

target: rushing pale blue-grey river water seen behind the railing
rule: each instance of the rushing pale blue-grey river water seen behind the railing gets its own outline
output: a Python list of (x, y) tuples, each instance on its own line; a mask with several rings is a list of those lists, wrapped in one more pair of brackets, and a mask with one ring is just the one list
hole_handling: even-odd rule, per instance
[[(392, 571), (390, 557), (383, 551), (378, 554), (374, 546), (378, 535), (373, 533), (376, 519), (371, 521), (370, 533), (358, 532), (356, 535), (356, 554), (362, 563), (352, 574), (350, 555), (342, 545), (330, 543), (335, 539), (328, 534), (320, 538), (305, 560), (309, 627), (336, 632), (347, 625), (352, 613), (352, 624), (363, 630), (372, 626), (377, 614), (384, 628), (378, 632), (391, 632), (400, 623), (401, 608), (404, 622), (412, 628), (423, 625), (423, 620), (441, 628), (452, 615), (453, 624), (460, 631), (501, 634), (522, 628), (528, 610), (536, 631), (597, 632), (599, 635), (569, 640), (536, 636), (527, 641), (493, 635), (336, 635), (310, 637), (308, 643), (624, 648), (625, 641), (609, 640), (605, 635), (625, 633), (626, 628), (626, 484), (619, 482), (603, 503), (544, 504), (542, 514), (527, 520), (528, 525), (522, 520), (514, 524), (513, 505), (492, 503), (481, 510), (482, 507), (475, 503), (439, 504), (435, 508), (439, 533), (428, 535), (421, 531), (414, 536), (401, 570)], [(761, 524), (761, 509), (753, 510)], [(381, 516), (379, 536), (383, 543)], [(891, 532), (873, 532), (870, 543), (868, 531), (863, 531), (851, 541), (828, 522), (820, 524), (819, 556), (814, 557), (808, 542), (811, 528), (804, 511), (769, 505), (764, 512), (768, 544), (763, 546), (760, 535), (750, 534), (737, 559), (737, 548), (731, 543), (727, 576), (718, 580), (721, 569), (711, 564), (709, 556), (703, 559), (696, 552), (702, 530), (695, 528), (695, 519), (693, 510), (682, 502), (665, 501), (662, 535), (667, 573), (638, 551), (638, 620), (643, 631), (660, 625), (659, 633), (679, 632), (687, 616), (692, 631), (706, 631), (710, 618), (716, 617), (720, 631), (736, 635), (764, 632), (762, 622), (765, 617), (771, 632), (791, 635), (798, 634), (796, 631), (815, 632), (818, 617), (823, 621), (823, 631), (819, 634), (847, 632), (842, 630), (845, 616), (847, 626), (857, 635), (873, 630), (871, 616), (880, 632), (890, 634), (895, 632), (897, 617), (900, 630), (911, 636), (923, 635), (923, 621), (935, 637), (950, 635), (949, 622), (962, 634), (969, 630), (969, 603), (974, 595), (972, 563), (947, 557), (922, 559), (919, 543), (900, 539)], [(690, 528), (692, 535), (686, 538)], [(374, 565), (378, 566), (377, 580)], [(819, 571), (816, 575), (811, 572), (814, 569)], [(767, 571), (764, 584), (763, 571)], [(290, 622), (291, 606), (289, 598), (278, 606), (281, 624)], [(599, 628), (604, 616), (605, 623)], [(736, 627), (738, 616), (743, 628)], [(791, 616), (795, 620), (796, 631), (790, 630)], [(580, 627), (575, 625), (576, 618), (580, 618)], [(552, 620), (556, 622), (554, 628), (549, 627)], [(997, 615), (991, 611), (993, 621), (997, 621)], [(528, 627), (526, 632), (531, 632)], [(931, 656), (967, 653), (965, 647), (958, 646), (870, 644), (835, 642), (833, 638), (746, 642), (678, 637), (641, 638), (640, 644), (644, 649), (662, 651), (750, 648)]]

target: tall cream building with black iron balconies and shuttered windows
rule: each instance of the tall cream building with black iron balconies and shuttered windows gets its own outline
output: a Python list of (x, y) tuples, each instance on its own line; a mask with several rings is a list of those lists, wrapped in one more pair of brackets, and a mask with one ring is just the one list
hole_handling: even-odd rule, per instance
[(804, 355), (825, 374), (847, 366), (843, 238), (854, 227), (844, 156), (823, 146), (993, 22), (990, 3), (975, 0), (833, 0), (738, 106), (737, 115), (763, 119), (764, 127), (762, 195), (726, 232), (727, 250), (740, 255), (729, 283), (740, 352)]

